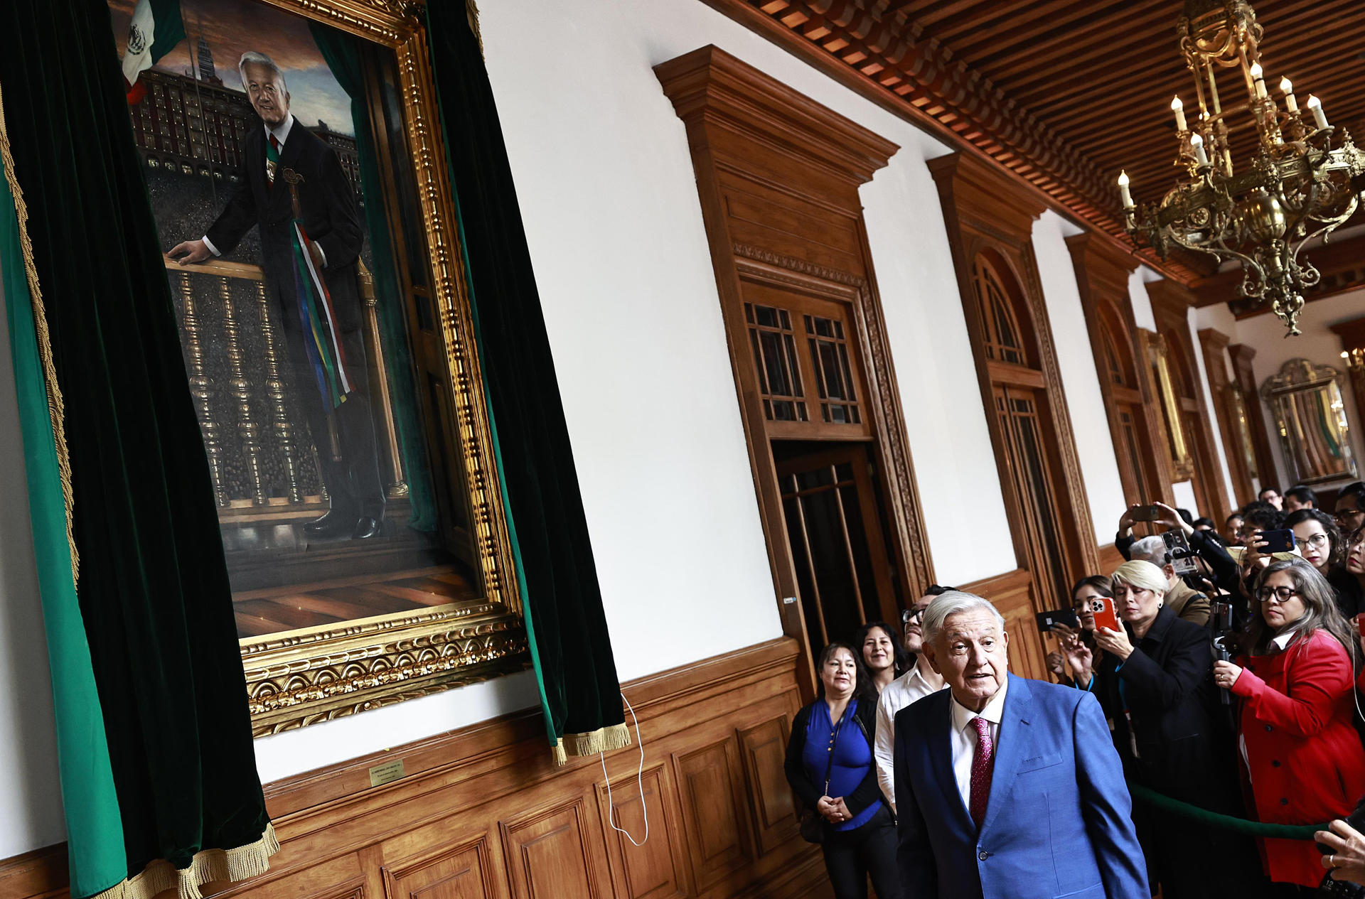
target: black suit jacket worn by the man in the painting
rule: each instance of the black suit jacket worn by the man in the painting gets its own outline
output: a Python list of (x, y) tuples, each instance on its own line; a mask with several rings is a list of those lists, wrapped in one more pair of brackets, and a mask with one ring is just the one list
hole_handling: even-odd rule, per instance
[[(280, 175), (272, 183), (266, 177), (265, 127), (250, 128), (243, 146), (243, 175), (238, 190), (205, 232), (214, 248), (227, 255), (253, 226), (261, 229), (261, 267), (266, 281), (278, 292), (285, 310), (292, 310), (287, 293), (293, 285), (293, 205), (285, 171), (302, 180), (299, 206), (303, 231), (326, 256), (322, 278), (326, 281), (332, 307), (340, 331), (360, 327), (360, 289), (356, 281), (356, 261), (360, 258), (363, 231), (351, 181), (341, 168), (337, 151), (303, 127), (298, 119), (289, 128), (289, 139), (280, 154)], [(296, 315), (285, 315), (289, 326)]]

